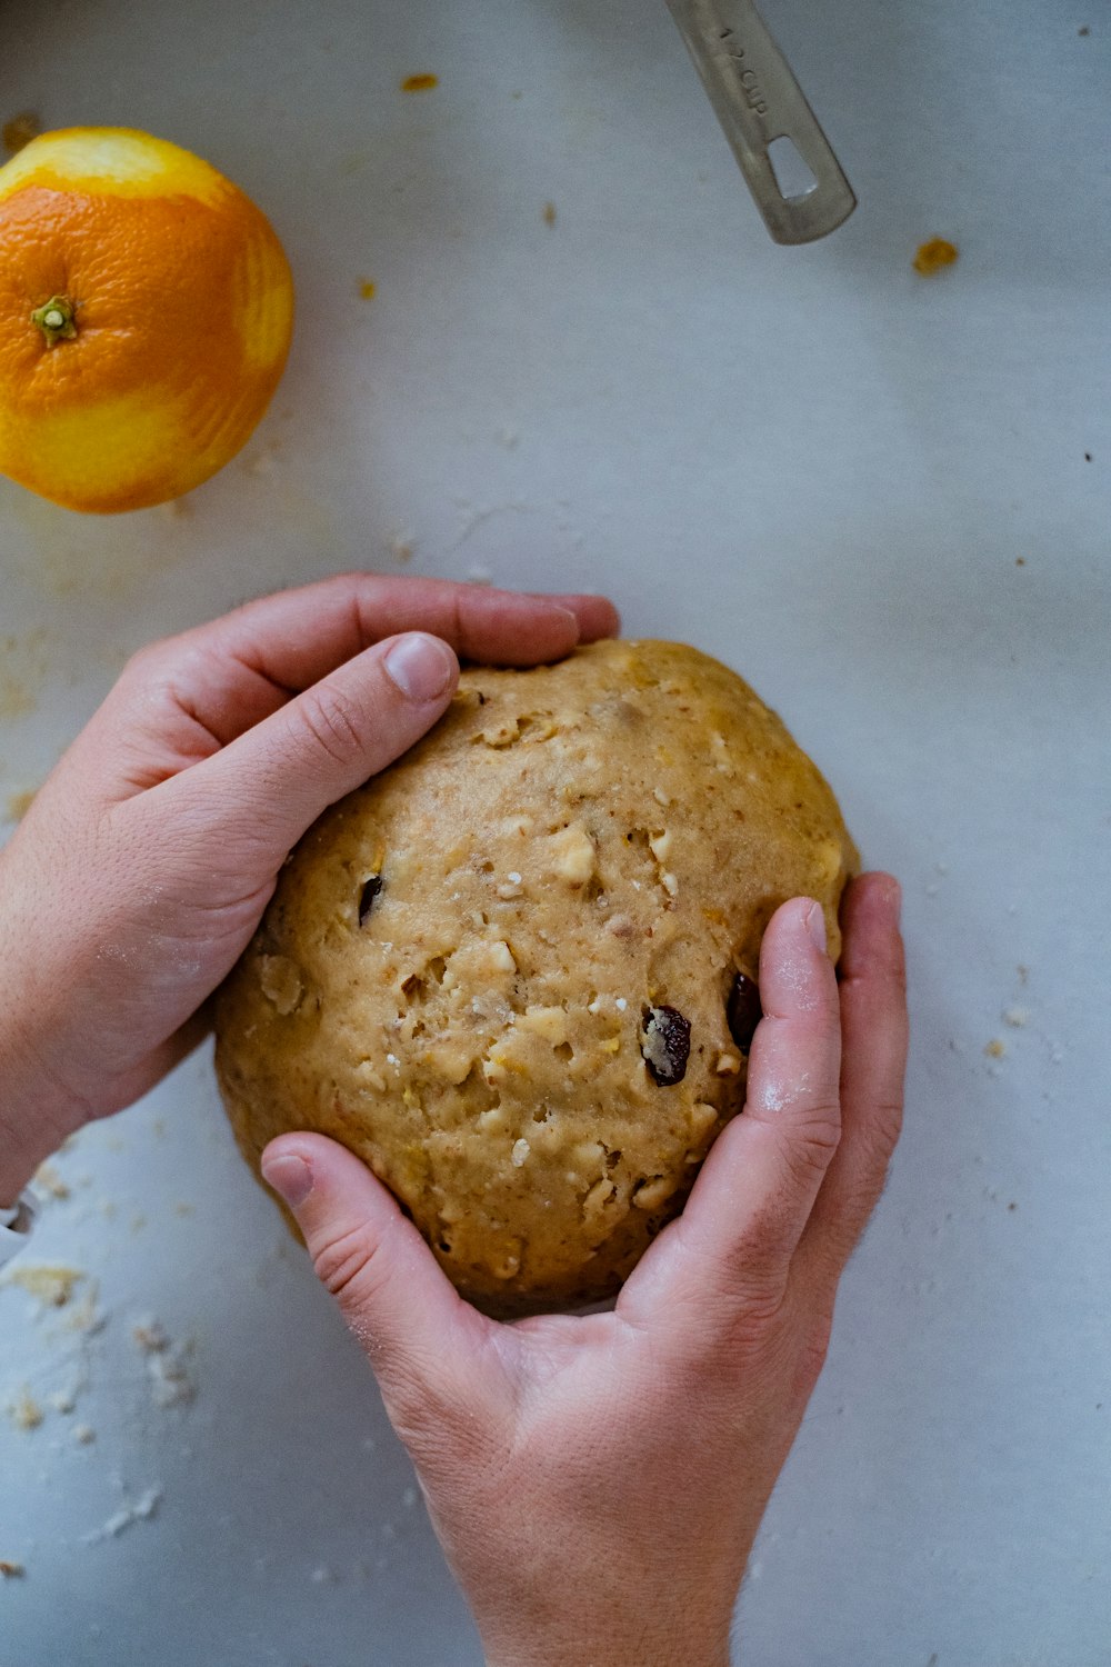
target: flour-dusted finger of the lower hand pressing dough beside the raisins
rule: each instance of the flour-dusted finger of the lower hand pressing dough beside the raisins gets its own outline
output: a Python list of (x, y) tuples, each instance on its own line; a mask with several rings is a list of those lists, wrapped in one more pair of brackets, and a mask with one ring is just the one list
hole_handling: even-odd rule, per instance
[(763, 1019), (745, 1110), (718, 1135), (678, 1222), (625, 1287), (683, 1312), (685, 1299), (753, 1300), (786, 1287), (791, 1255), (838, 1145), (841, 1035), (821, 905), (783, 904), (760, 949)]

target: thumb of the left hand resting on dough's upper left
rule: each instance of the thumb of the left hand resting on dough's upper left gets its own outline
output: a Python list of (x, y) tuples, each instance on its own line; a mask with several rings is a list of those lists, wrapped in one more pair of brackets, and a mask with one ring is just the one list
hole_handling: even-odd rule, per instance
[(233, 852), (243, 872), (277, 872), (328, 805), (431, 728), (456, 682), (438, 637), (376, 643), (135, 803), (180, 845), (197, 835), (205, 850)]

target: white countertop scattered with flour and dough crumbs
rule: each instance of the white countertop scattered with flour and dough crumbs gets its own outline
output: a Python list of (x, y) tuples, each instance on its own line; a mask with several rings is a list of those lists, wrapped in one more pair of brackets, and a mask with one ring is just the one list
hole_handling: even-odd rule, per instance
[[(861, 202), (813, 248), (766, 238), (663, 0), (8, 0), (0, 117), (207, 155), (278, 227), (300, 320), (185, 513), (0, 482), (0, 810), (148, 637), (405, 547), (606, 588), (631, 633), (733, 662), (903, 877), (914, 1004), (906, 1135), (743, 1659), (1106, 1667), (1111, 23), (766, 17)], [(923, 280), (936, 233), (961, 258)], [(45, 1410), (0, 1419), (0, 1559), (27, 1569), (0, 1667), (476, 1667), (207, 1057), (57, 1170), (33, 1260), (85, 1280), (47, 1315), (0, 1292), (0, 1402)], [(73, 1330), (93, 1285), (103, 1325)]]

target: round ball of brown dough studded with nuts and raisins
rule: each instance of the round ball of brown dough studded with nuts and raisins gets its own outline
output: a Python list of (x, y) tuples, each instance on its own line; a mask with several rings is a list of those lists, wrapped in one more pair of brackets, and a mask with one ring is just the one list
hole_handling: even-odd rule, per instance
[(333, 805), (227, 982), (217, 1067), (258, 1169), (341, 1140), (491, 1312), (611, 1295), (745, 1100), (760, 939), (856, 852), (731, 670), (666, 642), (465, 670)]

